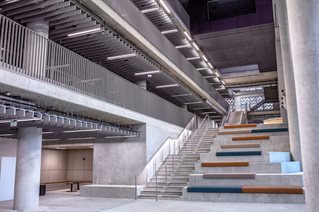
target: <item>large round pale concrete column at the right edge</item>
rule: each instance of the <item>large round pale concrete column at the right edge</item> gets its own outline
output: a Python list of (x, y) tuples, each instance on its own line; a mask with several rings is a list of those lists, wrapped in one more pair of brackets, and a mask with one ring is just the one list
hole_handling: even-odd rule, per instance
[(307, 212), (319, 201), (319, 1), (288, 0)]

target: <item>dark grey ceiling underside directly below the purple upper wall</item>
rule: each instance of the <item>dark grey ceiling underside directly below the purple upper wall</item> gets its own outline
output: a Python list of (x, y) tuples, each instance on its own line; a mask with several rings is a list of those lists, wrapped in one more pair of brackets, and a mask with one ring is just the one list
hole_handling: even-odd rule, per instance
[(218, 69), (258, 64), (261, 72), (276, 70), (273, 23), (195, 35)]

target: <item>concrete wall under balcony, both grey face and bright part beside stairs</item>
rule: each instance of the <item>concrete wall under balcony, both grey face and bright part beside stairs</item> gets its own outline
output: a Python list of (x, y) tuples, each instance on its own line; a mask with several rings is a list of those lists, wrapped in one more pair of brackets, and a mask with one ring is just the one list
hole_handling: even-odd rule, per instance
[(94, 143), (93, 183), (132, 185), (145, 182), (141, 175), (147, 162), (168, 137), (176, 138), (183, 128), (172, 125), (146, 124), (141, 136), (126, 139), (99, 139)]

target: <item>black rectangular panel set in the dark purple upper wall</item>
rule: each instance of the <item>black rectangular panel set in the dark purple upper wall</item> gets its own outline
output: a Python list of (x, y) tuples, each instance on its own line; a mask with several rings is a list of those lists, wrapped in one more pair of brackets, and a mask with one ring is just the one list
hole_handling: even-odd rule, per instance
[(255, 0), (208, 0), (209, 21), (256, 13)]

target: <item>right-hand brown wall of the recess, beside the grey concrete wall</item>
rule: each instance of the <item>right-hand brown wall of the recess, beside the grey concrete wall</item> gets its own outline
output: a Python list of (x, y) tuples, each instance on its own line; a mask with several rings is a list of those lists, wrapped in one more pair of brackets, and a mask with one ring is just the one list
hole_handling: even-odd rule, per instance
[(69, 150), (67, 158), (67, 179), (92, 181), (93, 150)]

